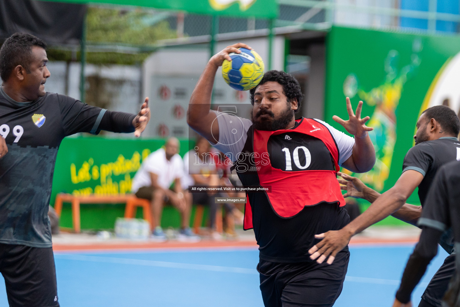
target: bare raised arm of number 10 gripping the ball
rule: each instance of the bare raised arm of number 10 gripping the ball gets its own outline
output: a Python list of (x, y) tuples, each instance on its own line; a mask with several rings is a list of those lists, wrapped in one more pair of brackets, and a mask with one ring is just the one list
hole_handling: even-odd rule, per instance
[(252, 49), (243, 43), (226, 47), (215, 54), (206, 65), (203, 73), (196, 83), (190, 97), (189, 109), (187, 110), (187, 123), (189, 126), (213, 143), (219, 141), (219, 125), (215, 121), (216, 114), (211, 111), (211, 96), (213, 94), (214, 78), (217, 69), (222, 66), (224, 60), (231, 61), (230, 52), (241, 53), (239, 47)]

